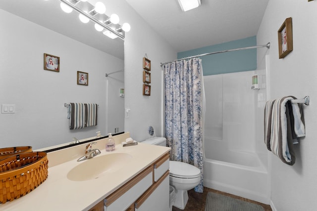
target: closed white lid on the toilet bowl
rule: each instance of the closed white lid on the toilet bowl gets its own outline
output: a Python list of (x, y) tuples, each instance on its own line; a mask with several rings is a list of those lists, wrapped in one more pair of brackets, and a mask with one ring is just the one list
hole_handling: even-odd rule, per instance
[(169, 174), (179, 178), (196, 178), (200, 176), (200, 169), (183, 162), (169, 161)]

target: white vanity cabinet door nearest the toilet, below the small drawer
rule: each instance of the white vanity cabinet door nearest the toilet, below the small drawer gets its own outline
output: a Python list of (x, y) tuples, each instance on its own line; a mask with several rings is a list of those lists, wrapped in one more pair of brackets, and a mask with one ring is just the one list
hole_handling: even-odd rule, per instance
[(135, 211), (169, 210), (169, 171), (135, 203)]

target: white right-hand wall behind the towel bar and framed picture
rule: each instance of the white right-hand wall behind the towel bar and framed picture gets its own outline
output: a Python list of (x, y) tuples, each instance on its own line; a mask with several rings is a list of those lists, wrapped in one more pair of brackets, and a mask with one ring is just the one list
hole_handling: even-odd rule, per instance
[[(257, 36), (258, 44), (271, 42), (269, 50), (258, 51), (259, 69), (265, 68), (265, 55), (269, 57), (270, 98), (311, 98), (311, 105), (304, 106), (306, 137), (295, 145), (295, 165), (288, 166), (269, 153), (271, 205), (277, 211), (312, 211), (317, 207), (316, 11), (316, 0), (270, 0)], [(277, 30), (288, 17), (293, 18), (294, 50), (278, 59)]]

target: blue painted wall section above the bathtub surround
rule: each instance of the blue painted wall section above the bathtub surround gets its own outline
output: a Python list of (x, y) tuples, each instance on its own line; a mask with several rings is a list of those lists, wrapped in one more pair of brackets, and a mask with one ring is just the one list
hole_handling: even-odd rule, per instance
[[(203, 53), (211, 53), (241, 47), (257, 45), (257, 37), (224, 42), (221, 44), (201, 47), (193, 50), (177, 53), (177, 58), (185, 58)], [(251, 71), (257, 69), (257, 49), (237, 50), (225, 53), (217, 53), (200, 57), (202, 59), (204, 76)]]

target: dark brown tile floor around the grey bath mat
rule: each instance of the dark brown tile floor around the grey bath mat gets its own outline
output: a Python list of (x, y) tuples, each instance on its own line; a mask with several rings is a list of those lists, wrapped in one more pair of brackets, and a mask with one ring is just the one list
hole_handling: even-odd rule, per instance
[[(265, 204), (262, 204), (260, 202), (252, 201), (250, 199), (245, 199), (245, 198), (242, 198), (239, 196), (235, 196), (232, 194), (224, 193), (224, 192), (213, 190), (213, 189), (206, 188), (206, 187), (204, 187), (204, 193), (196, 193), (194, 191), (194, 189), (188, 191), (189, 199), (188, 199), (188, 203), (187, 203), (184, 211), (205, 211), (206, 197), (207, 197), (208, 192), (223, 194), (225, 196), (229, 196), (229, 197), (233, 197), (233, 198), (240, 199), (243, 201), (258, 204), (264, 208), (264, 211), (272, 211), (272, 209), (269, 205), (265, 205)], [(173, 211), (182, 211), (182, 210), (173, 207)]]

